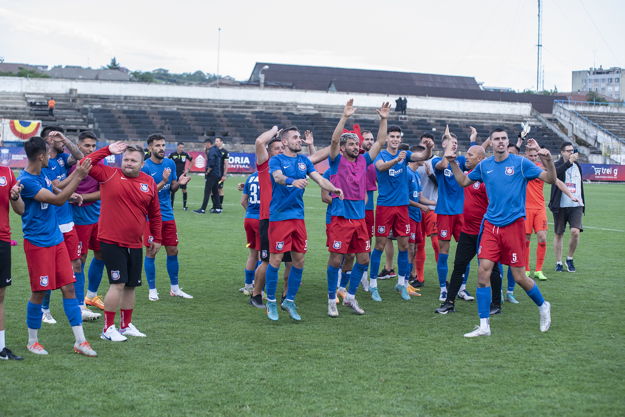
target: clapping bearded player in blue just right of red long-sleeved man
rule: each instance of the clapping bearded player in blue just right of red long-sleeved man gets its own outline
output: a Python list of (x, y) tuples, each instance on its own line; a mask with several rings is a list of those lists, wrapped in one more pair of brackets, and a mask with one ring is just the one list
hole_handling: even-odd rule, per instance
[(183, 292), (178, 285), (178, 230), (176, 229), (176, 220), (174, 220), (174, 209), (171, 205), (171, 196), (174, 195), (181, 185), (187, 185), (191, 177), (181, 175), (179, 178), (172, 178), (171, 173), (176, 171), (176, 163), (172, 159), (165, 158), (165, 137), (160, 133), (153, 133), (146, 140), (148, 150), (151, 157), (146, 159), (142, 172), (150, 175), (156, 183), (158, 191), (159, 203), (161, 204), (161, 216), (159, 218), (148, 218), (148, 222), (143, 229), (143, 245), (146, 247), (146, 258), (144, 261), (144, 269), (146, 270), (146, 279), (150, 288), (148, 300), (158, 300), (158, 292), (156, 291), (156, 266), (154, 258), (156, 252), (152, 245), (154, 236), (151, 235), (150, 222), (161, 222), (161, 245), (165, 247), (167, 252), (167, 272), (169, 275), (169, 295), (172, 297), (193, 298), (191, 295)]

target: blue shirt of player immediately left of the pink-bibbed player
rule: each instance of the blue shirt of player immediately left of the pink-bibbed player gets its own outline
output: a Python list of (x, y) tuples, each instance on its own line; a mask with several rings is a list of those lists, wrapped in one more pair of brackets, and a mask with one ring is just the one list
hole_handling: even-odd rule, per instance
[[(304, 219), (304, 190), (292, 185), (276, 184), (274, 171), (282, 171), (287, 178), (294, 180), (306, 179), (306, 175), (316, 172), (310, 159), (305, 156), (287, 157), (284, 154), (269, 158), (269, 175), (271, 177), (271, 204), (269, 205), (269, 221), (279, 222), (289, 218)], [(295, 193), (292, 199), (291, 194)]]

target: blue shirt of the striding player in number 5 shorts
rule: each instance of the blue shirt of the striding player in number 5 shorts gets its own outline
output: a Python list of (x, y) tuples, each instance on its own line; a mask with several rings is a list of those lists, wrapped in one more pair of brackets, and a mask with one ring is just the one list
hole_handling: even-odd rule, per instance
[(503, 227), (525, 217), (527, 181), (538, 178), (541, 172), (531, 160), (514, 154), (501, 162), (492, 156), (477, 164), (469, 172), (469, 179), (486, 185), (489, 204), (484, 218)]

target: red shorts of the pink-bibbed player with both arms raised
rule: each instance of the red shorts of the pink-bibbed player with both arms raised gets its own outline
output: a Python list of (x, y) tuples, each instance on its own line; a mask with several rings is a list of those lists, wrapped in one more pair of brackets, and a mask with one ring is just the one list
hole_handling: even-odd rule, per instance
[(371, 250), (371, 241), (364, 218), (356, 220), (332, 216), (328, 236), (328, 250), (337, 253), (365, 253)]

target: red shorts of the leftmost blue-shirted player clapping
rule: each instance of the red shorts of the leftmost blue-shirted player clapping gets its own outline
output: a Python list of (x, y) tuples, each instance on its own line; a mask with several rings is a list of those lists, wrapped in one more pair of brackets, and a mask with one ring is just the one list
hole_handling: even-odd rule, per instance
[(24, 253), (32, 292), (56, 290), (76, 282), (65, 243), (42, 248), (24, 239)]

